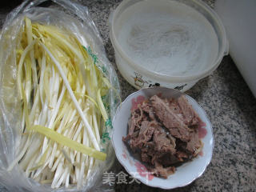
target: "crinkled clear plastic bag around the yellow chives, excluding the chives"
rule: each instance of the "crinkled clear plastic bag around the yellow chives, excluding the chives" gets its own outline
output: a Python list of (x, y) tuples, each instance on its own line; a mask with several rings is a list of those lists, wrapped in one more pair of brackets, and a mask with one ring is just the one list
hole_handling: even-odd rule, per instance
[[(105, 150), (107, 158), (105, 162), (98, 161), (98, 166), (93, 170), (93, 174), (82, 191), (87, 190), (112, 190), (109, 186), (102, 186), (102, 173), (109, 170), (115, 160), (114, 150), (110, 144), (112, 131), (111, 119), (113, 118), (117, 106), (119, 105), (118, 94), (119, 84), (114, 68), (106, 58), (102, 39), (98, 33), (94, 22), (91, 20), (86, 7), (67, 0), (52, 0), (58, 7), (44, 8), (38, 7), (46, 0), (25, 1), (18, 6), (6, 18), (0, 35), (0, 183), (10, 191), (76, 191), (76, 186), (69, 188), (59, 188), (53, 190), (50, 185), (41, 185), (33, 179), (26, 178), (23, 170), (18, 165), (10, 172), (7, 167), (17, 154), (16, 148), (20, 142), (18, 130), (21, 125), (22, 104), (18, 99), (18, 89), (16, 85), (16, 54), (15, 46), (21, 38), (19, 31), (24, 26), (23, 18), (26, 15), (32, 22), (51, 24), (70, 30), (85, 47), (90, 47), (94, 56), (98, 58), (97, 66), (109, 79), (111, 86), (103, 102), (110, 121), (105, 123), (103, 128), (107, 137), (102, 138), (101, 147)], [(94, 166), (95, 167), (95, 166)]]

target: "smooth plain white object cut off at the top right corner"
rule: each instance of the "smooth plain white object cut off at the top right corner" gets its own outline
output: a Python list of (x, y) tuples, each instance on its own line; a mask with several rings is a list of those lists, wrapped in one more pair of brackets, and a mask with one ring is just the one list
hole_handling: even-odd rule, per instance
[(256, 1), (218, 0), (214, 9), (226, 27), (230, 55), (256, 98)]

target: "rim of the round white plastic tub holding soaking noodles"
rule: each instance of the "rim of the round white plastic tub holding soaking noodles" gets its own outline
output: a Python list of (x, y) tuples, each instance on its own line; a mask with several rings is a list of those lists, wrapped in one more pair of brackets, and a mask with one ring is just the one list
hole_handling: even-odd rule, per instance
[[(122, 9), (123, 6), (126, 6), (127, 4), (129, 6), (134, 5), (135, 3), (142, 2), (143, 0), (138, 0), (138, 1), (130, 4), (131, 1), (133, 1), (133, 0), (122, 1), (118, 5), (118, 7), (114, 10), (114, 12), (112, 12), (110, 14), (110, 18), (109, 18), (110, 40), (112, 42), (112, 45), (114, 46), (114, 51), (117, 52), (118, 54), (120, 54), (122, 56), (122, 59), (126, 60), (128, 65), (130, 65), (133, 69), (136, 69), (140, 74), (145, 74), (146, 76), (148, 76), (150, 78), (154, 78), (158, 81), (166, 81), (166, 82), (184, 83), (184, 82), (198, 81), (199, 79), (205, 78), (211, 72), (216, 70), (218, 65), (222, 61), (222, 58), (224, 57), (224, 55), (228, 54), (229, 43), (228, 43), (228, 40), (226, 37), (226, 30), (225, 30), (224, 25), (222, 24), (222, 20), (218, 16), (218, 14), (213, 9), (211, 9), (210, 6), (208, 6), (206, 4), (206, 2), (202, 2), (201, 0), (190, 0), (190, 3), (194, 3), (194, 5), (199, 6), (203, 10), (205, 10), (210, 15), (210, 18), (213, 18), (213, 20), (217, 24), (215, 27), (214, 26), (213, 27), (214, 28), (217, 27), (221, 31), (222, 38), (218, 39), (218, 42), (222, 42), (223, 46), (221, 47), (220, 50), (218, 50), (218, 56), (212, 62), (210, 67), (208, 67), (208, 68), (206, 68), (206, 70), (202, 70), (201, 72), (196, 73), (194, 75), (181, 76), (181, 75), (160, 74), (160, 73), (154, 72), (152, 70), (148, 70), (144, 66), (138, 65), (137, 62), (132, 61), (132, 59), (125, 53), (125, 51), (122, 49), (122, 46), (120, 45), (120, 43), (118, 42), (118, 39), (116, 38), (116, 36), (114, 34), (114, 23), (115, 23), (115, 20), (117, 19), (116, 14), (118, 14), (120, 12), (120, 10)], [(184, 3), (184, 2), (182, 2), (182, 3)], [(129, 7), (129, 6), (127, 6), (127, 7)], [(126, 9), (127, 9), (127, 7), (126, 7)], [(192, 7), (192, 6), (190, 6), (190, 7), (192, 9), (194, 9), (194, 7)], [(205, 17), (205, 16), (203, 15), (203, 17)], [(208, 21), (208, 19), (207, 19), (207, 21)], [(212, 26), (212, 24), (210, 24), (210, 25)], [(214, 32), (216, 34), (216, 31), (214, 31)]]

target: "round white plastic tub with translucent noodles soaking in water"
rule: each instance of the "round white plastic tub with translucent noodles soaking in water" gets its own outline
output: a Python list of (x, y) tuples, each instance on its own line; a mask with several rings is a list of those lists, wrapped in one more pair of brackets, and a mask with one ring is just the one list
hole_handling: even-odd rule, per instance
[(218, 15), (196, 0), (124, 0), (110, 14), (110, 39), (118, 70), (137, 89), (186, 91), (228, 53)]

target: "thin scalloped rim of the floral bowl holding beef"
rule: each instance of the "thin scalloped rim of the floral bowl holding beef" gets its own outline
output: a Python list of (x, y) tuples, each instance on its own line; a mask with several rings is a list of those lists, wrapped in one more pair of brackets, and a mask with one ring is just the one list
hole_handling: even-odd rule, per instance
[[(114, 125), (114, 121), (116, 120), (116, 117), (117, 117), (117, 114), (119, 112), (119, 110), (121, 109), (122, 107), (122, 104), (127, 102), (127, 100), (131, 97), (134, 96), (134, 94), (138, 94), (139, 92), (141, 92), (142, 90), (146, 90), (146, 89), (156, 89), (156, 88), (163, 88), (163, 89), (168, 89), (168, 90), (174, 90), (174, 89), (170, 89), (170, 88), (166, 88), (166, 87), (162, 87), (162, 86), (158, 86), (158, 87), (146, 87), (146, 88), (142, 88), (141, 90), (137, 90), (135, 91), (134, 93), (130, 94), (122, 103), (120, 103), (120, 105), (118, 106), (118, 109), (116, 110), (116, 114), (114, 115), (114, 118), (113, 118), (113, 125)], [(194, 100), (194, 98), (190, 97), (190, 95), (187, 95), (187, 94), (184, 94), (182, 93), (183, 95), (185, 95), (187, 98), (190, 98), (193, 102), (195, 102), (197, 105), (198, 105), (198, 108), (200, 110), (202, 110), (203, 114), (205, 115), (206, 117), (206, 121), (209, 123), (210, 125), (210, 131), (211, 131), (211, 134), (210, 134), (210, 139), (212, 139), (212, 147), (211, 147), (211, 150), (210, 150), (210, 158), (207, 159), (206, 161), (206, 164), (205, 164), (205, 167), (203, 168), (203, 170), (201, 172), (199, 172), (198, 174), (196, 174), (194, 176), (193, 179), (190, 180), (190, 182), (185, 182), (181, 185), (177, 185), (177, 186), (171, 186), (171, 187), (165, 187), (165, 186), (157, 186), (157, 185), (151, 185), (150, 182), (144, 182), (141, 180), (141, 178), (138, 176), (138, 174), (134, 174), (133, 172), (130, 172), (129, 168), (126, 166), (126, 163), (124, 163), (121, 159), (121, 156), (118, 156), (116, 155), (116, 157), (118, 158), (118, 162), (120, 162), (120, 164), (125, 168), (125, 170), (127, 171), (128, 174), (132, 175), (134, 178), (137, 178), (140, 182), (142, 182), (143, 184), (145, 184), (146, 186), (152, 186), (152, 187), (158, 187), (158, 188), (161, 188), (163, 190), (171, 190), (171, 189), (174, 189), (174, 188), (178, 188), (178, 187), (182, 187), (182, 186), (187, 186), (187, 185), (190, 185), (190, 183), (194, 182), (194, 180), (196, 180), (197, 178), (200, 178), (202, 176), (202, 174), (206, 171), (206, 168), (207, 166), (209, 166), (210, 162), (211, 162), (211, 159), (213, 157), (213, 153), (214, 153), (214, 130), (213, 130), (213, 126), (211, 125), (211, 122), (206, 114), (206, 111), (202, 109), (202, 106), (200, 106), (198, 104), (198, 102), (196, 102)], [(111, 135), (111, 143), (112, 143), (112, 146), (114, 148), (114, 151), (116, 151), (116, 146), (114, 145), (114, 133), (115, 133), (115, 128), (113, 126), (113, 132), (112, 132), (112, 135)]]

